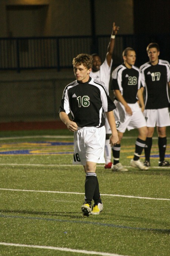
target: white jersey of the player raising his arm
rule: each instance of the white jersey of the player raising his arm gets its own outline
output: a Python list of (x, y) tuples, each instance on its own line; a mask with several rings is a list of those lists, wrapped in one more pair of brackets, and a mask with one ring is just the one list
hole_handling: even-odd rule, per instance
[(110, 72), (111, 72), (111, 65), (113, 60), (111, 60), (110, 66), (107, 64), (107, 60), (105, 58), (104, 63), (100, 66), (100, 70), (97, 72), (90, 72), (90, 77), (93, 79), (99, 80), (104, 82), (105, 86), (109, 90), (109, 82), (110, 82)]

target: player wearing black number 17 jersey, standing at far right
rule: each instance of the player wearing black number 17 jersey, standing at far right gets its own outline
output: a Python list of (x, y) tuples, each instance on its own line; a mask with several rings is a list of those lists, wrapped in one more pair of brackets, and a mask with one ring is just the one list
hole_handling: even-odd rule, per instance
[(159, 60), (159, 45), (150, 43), (147, 46), (149, 62), (140, 67), (142, 85), (145, 87), (145, 119), (148, 135), (145, 146), (146, 166), (150, 166), (150, 152), (155, 126), (158, 133), (159, 166), (169, 166), (165, 161), (167, 145), (166, 127), (170, 126), (168, 85), (170, 86), (170, 64)]

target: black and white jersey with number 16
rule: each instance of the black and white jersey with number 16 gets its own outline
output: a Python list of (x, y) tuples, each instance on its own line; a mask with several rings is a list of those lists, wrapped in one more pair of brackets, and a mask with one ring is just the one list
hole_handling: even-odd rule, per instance
[(79, 127), (102, 127), (105, 125), (104, 112), (115, 109), (103, 82), (90, 79), (86, 83), (75, 80), (65, 87), (59, 112), (67, 115)]

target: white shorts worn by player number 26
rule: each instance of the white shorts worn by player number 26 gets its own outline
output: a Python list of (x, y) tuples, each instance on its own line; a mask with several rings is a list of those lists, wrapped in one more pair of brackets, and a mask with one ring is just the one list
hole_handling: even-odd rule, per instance
[(116, 108), (114, 109), (114, 117), (116, 121), (116, 128), (119, 132), (124, 133), (125, 130), (138, 129), (146, 126), (144, 114), (139, 107), (138, 102), (135, 104), (128, 104), (133, 114), (127, 115), (124, 105), (119, 101), (114, 101)]

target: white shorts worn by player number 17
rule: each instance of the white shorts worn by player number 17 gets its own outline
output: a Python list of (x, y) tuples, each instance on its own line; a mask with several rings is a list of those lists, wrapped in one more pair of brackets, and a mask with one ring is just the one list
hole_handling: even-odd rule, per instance
[(165, 127), (170, 126), (169, 108), (145, 109), (144, 116), (147, 127)]

